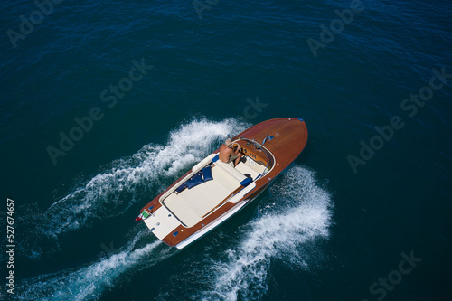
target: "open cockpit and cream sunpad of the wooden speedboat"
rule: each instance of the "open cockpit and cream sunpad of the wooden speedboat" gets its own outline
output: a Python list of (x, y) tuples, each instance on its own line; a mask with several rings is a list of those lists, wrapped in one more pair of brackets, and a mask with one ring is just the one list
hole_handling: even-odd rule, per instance
[(231, 146), (242, 149), (238, 165), (211, 154), (162, 195), (160, 202), (184, 227), (193, 227), (226, 202), (238, 202), (273, 167), (274, 156), (256, 141), (236, 136)]

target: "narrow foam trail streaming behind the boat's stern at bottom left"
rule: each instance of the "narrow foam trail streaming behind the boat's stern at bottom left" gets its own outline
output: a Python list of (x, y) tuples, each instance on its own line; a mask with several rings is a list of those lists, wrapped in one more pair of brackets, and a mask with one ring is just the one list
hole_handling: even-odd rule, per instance
[[(20, 300), (96, 300), (107, 287), (114, 287), (121, 276), (131, 268), (142, 269), (170, 256), (168, 248), (155, 254), (157, 247), (164, 244), (158, 240), (140, 249), (133, 249), (137, 234), (126, 250), (101, 259), (88, 267), (63, 270), (23, 280), (16, 288)], [(132, 250), (133, 249), (133, 250)], [(152, 256), (151, 256), (152, 254)]]

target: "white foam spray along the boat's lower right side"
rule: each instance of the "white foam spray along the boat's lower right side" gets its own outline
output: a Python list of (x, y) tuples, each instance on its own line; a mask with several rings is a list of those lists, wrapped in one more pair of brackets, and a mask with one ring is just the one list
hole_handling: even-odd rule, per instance
[(306, 268), (306, 244), (328, 238), (332, 202), (329, 193), (315, 183), (314, 173), (294, 166), (271, 187), (274, 202), (246, 227), (244, 240), (214, 261), (211, 290), (196, 299), (237, 300), (261, 298), (267, 292), (270, 259), (289, 261)]

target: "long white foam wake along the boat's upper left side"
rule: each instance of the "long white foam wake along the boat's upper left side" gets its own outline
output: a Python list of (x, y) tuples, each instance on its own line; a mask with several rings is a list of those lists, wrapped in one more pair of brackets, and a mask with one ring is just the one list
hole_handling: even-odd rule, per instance
[[(143, 146), (135, 155), (113, 162), (105, 172), (79, 184), (45, 212), (31, 210), (25, 214), (22, 223), (28, 229), (23, 232), (28, 238), (58, 241), (63, 233), (117, 217), (135, 202), (142, 201), (143, 195), (164, 189), (184, 169), (220, 146), (227, 134), (240, 132), (248, 126), (236, 119), (210, 121), (205, 118), (182, 124), (170, 133), (165, 145)], [(40, 259), (42, 250), (35, 247), (40, 244), (28, 241), (29, 245), (23, 248), (27, 249), (24, 256)]]

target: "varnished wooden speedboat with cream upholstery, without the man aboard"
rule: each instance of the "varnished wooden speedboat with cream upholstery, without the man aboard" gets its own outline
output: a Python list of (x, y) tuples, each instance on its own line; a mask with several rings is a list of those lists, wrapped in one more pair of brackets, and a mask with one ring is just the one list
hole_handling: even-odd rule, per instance
[(155, 236), (182, 249), (239, 212), (262, 193), (306, 146), (299, 118), (276, 118), (231, 138), (241, 146), (240, 163), (221, 162), (220, 148), (147, 203), (136, 221)]

